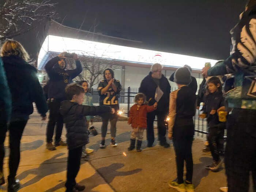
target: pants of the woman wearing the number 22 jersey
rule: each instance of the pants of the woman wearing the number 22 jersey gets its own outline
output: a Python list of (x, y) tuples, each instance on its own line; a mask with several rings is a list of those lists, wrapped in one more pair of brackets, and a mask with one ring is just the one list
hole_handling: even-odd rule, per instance
[(101, 137), (105, 138), (108, 131), (108, 123), (110, 121), (110, 135), (112, 138), (116, 137), (116, 122), (117, 114), (103, 114), (102, 115), (102, 125), (101, 125)]

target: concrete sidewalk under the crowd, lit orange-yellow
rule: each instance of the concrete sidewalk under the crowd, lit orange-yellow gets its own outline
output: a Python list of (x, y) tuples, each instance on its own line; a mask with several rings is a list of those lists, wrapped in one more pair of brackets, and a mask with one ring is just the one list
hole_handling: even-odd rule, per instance
[[(101, 123), (94, 123), (100, 128)], [(67, 148), (57, 147), (55, 151), (45, 148), (46, 122), (41, 123), (37, 113), (31, 115), (25, 128), (21, 144), (21, 160), (17, 178), (22, 184), (20, 192), (63, 192), (67, 167)], [(105, 149), (99, 148), (101, 136), (90, 137), (87, 147), (95, 150), (90, 154), (90, 161), (81, 161), (81, 168), (76, 181), (86, 185), (84, 191), (98, 192), (174, 192), (168, 186), (169, 180), (176, 178), (175, 154), (172, 147), (159, 146), (157, 138), (155, 146), (147, 148), (147, 142), (142, 144), (143, 151), (137, 153), (127, 150), (130, 141), (131, 128), (126, 121), (117, 122), (117, 147), (110, 147), (110, 134), (106, 136)], [(155, 129), (157, 136), (157, 129)], [(63, 129), (65, 140), (65, 129)], [(146, 139), (146, 132), (144, 132)], [(168, 141), (170, 142), (170, 141)], [(219, 191), (226, 186), (225, 170), (213, 173), (204, 169), (211, 163), (210, 153), (203, 153), (204, 139), (197, 137), (193, 142), (193, 184), (198, 192)], [(6, 156), (4, 159), (4, 174), (8, 176), (8, 136), (5, 140)], [(126, 153), (126, 156), (123, 154)], [(6, 184), (0, 191), (6, 190)]]

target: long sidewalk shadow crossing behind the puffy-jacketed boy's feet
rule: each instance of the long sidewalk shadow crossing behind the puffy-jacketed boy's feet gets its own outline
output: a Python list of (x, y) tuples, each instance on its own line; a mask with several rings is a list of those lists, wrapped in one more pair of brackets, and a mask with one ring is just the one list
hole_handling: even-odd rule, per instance
[[(122, 163), (113, 163), (107, 167), (101, 167), (96, 170), (95, 174), (92, 175), (91, 177), (88, 177), (82, 181), (79, 182), (80, 185), (86, 185), (86, 191), (91, 191), (91, 189), (97, 187), (98, 185), (105, 184), (104, 180), (102, 179), (102, 182), (99, 182), (98, 180), (98, 173), (105, 179), (105, 181), (109, 184), (111, 183), (115, 177), (117, 176), (128, 176), (132, 175), (135, 173), (139, 173), (142, 169), (134, 169), (131, 171), (117, 171), (118, 169), (121, 169), (124, 166)], [(95, 182), (98, 181), (98, 182)], [(65, 182), (61, 182), (55, 187), (48, 189), (45, 192), (53, 192), (56, 191), (60, 188), (65, 187)]]

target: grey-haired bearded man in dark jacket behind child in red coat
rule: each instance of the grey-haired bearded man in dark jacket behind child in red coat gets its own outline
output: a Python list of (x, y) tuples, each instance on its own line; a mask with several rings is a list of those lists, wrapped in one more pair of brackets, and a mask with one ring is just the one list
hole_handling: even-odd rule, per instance
[(151, 66), (151, 72), (140, 84), (139, 92), (146, 95), (148, 105), (153, 105), (156, 102), (155, 92), (157, 87), (162, 90), (163, 95), (157, 102), (157, 110), (147, 113), (147, 146), (152, 147), (155, 140), (153, 123), (155, 115), (157, 115), (160, 144), (161, 146), (169, 147), (170, 145), (166, 142), (165, 138), (165, 119), (168, 114), (171, 87), (168, 80), (162, 75), (162, 65), (159, 63), (155, 63)]

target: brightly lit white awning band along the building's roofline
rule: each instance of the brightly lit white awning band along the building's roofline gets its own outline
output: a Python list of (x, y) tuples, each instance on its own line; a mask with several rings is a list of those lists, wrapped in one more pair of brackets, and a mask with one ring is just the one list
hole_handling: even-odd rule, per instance
[(167, 67), (176, 68), (183, 67), (187, 64), (192, 69), (199, 70), (204, 67), (206, 62), (211, 62), (212, 64), (217, 62), (217, 60), (202, 57), (48, 35), (38, 55), (38, 69), (44, 70), (44, 65), (49, 60), (49, 53), (55, 53), (56, 55), (64, 51), (69, 53), (75, 52), (80, 56), (99, 57), (142, 64), (160, 63)]

